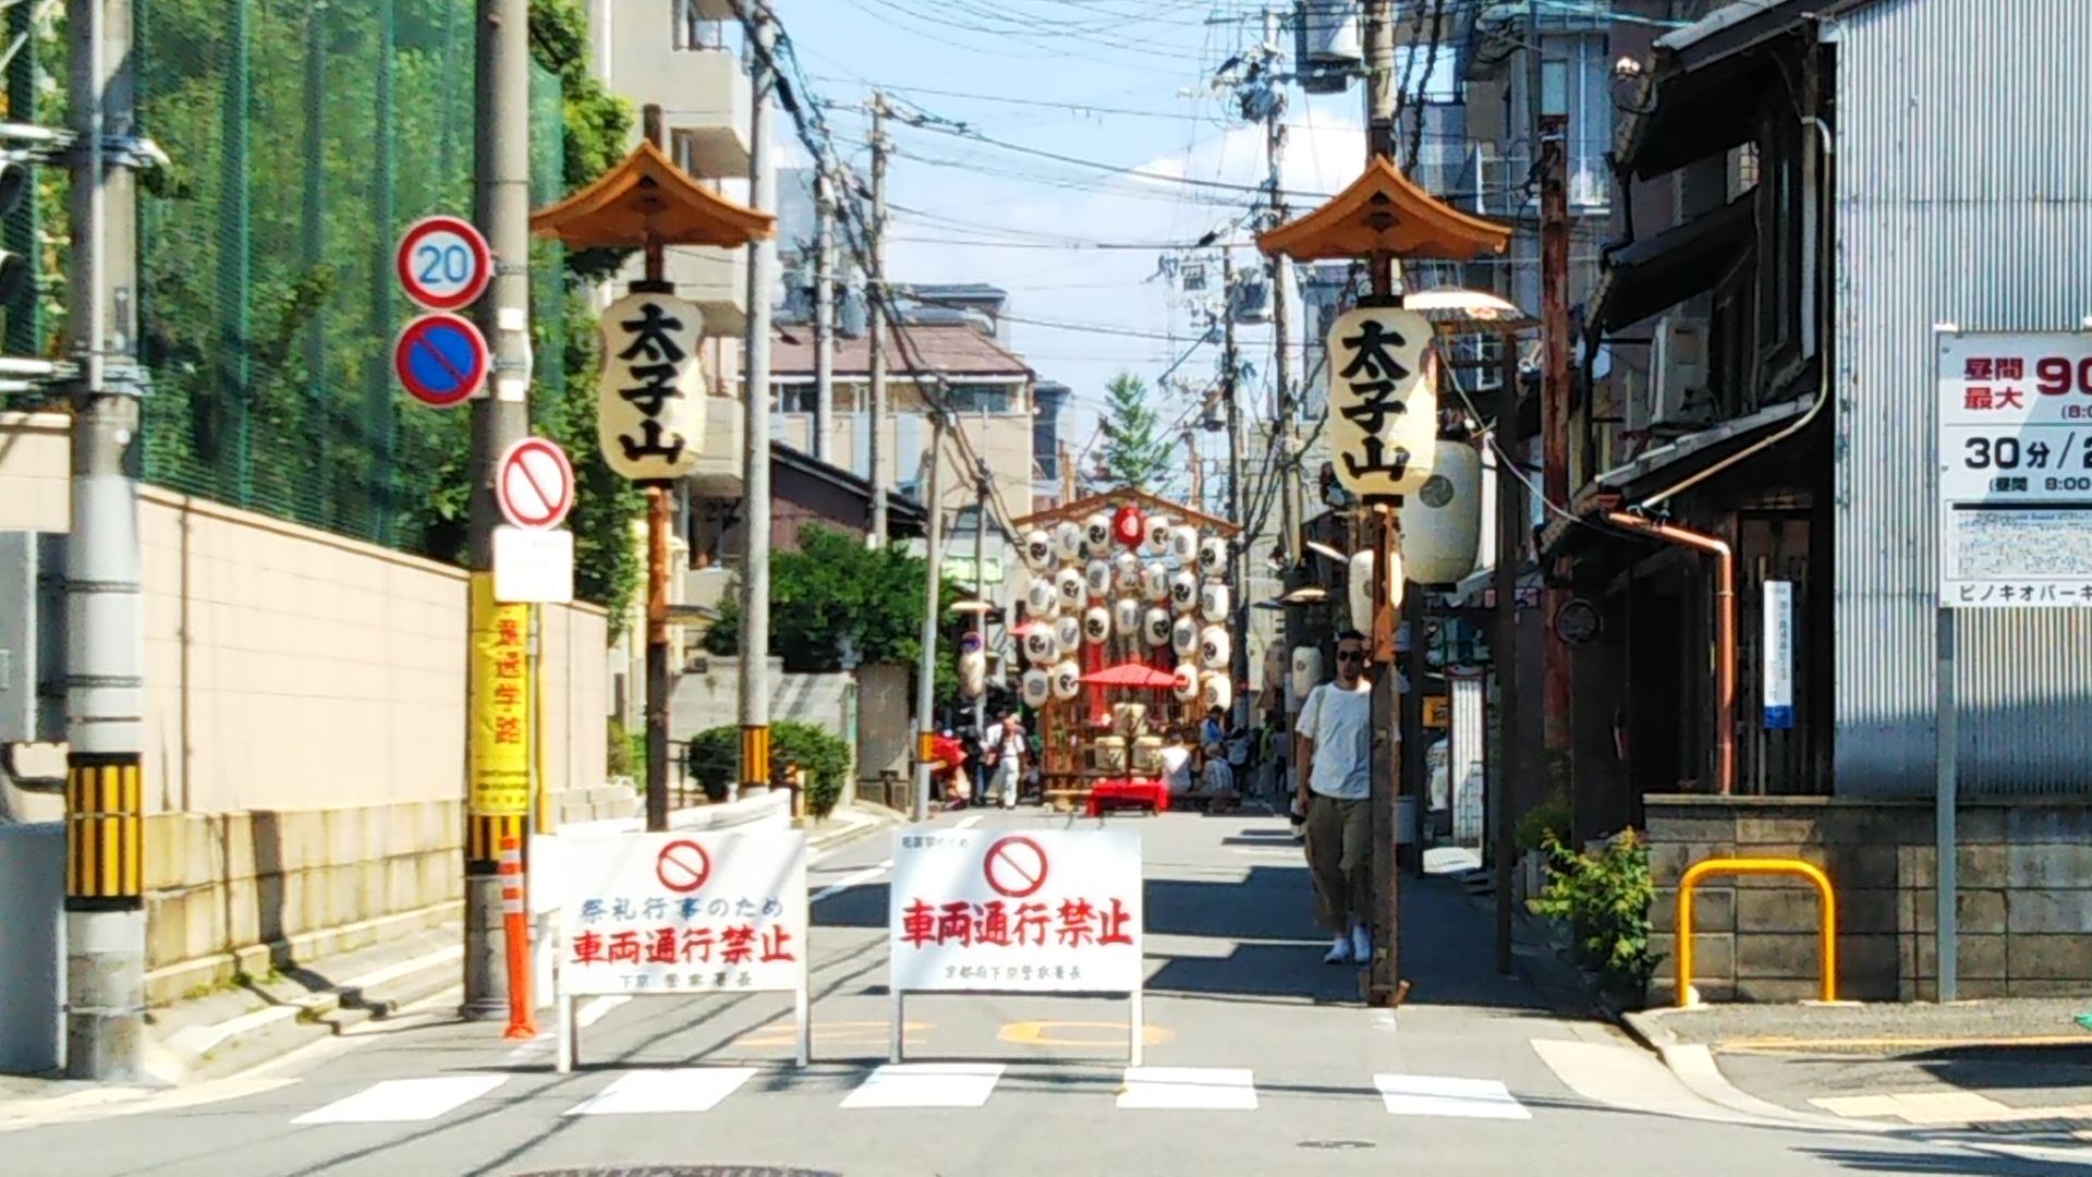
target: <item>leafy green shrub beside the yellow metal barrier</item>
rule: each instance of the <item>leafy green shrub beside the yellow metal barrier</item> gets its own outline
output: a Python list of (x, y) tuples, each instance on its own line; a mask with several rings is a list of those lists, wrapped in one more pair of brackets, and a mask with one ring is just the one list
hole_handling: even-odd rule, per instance
[(1569, 924), (1577, 963), (1596, 974), (1598, 991), (1640, 1005), (1661, 955), (1648, 949), (1648, 905), (1657, 898), (1648, 844), (1625, 829), (1602, 848), (1573, 852), (1548, 834), (1552, 878), (1533, 911)]

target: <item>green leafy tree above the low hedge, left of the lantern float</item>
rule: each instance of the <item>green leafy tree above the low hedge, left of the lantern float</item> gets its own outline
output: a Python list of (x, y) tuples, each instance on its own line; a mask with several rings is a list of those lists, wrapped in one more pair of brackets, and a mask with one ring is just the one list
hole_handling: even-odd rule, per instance
[[(958, 695), (954, 658), (967, 630), (952, 605), (967, 593), (943, 582), (937, 609), (937, 697)], [(770, 656), (789, 674), (833, 674), (843, 668), (843, 643), (854, 639), (864, 664), (916, 666), (923, 660), (923, 557), (864, 542), (822, 526), (799, 528), (799, 551), (770, 557)], [(705, 651), (741, 651), (741, 601), (728, 595), (720, 620), (705, 632)]]

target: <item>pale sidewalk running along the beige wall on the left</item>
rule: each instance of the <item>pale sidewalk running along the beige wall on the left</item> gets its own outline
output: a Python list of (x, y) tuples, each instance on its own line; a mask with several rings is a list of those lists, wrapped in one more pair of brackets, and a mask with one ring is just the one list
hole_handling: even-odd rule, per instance
[[(904, 821), (879, 806), (805, 819), (808, 850), (822, 854)], [(149, 1079), (172, 1087), (224, 1079), (282, 1058), (351, 1026), (437, 1003), (458, 989), (464, 928), (456, 921), (316, 961), (285, 961), (268, 976), (146, 1012)], [(96, 1085), (56, 1076), (0, 1074), (0, 1123), (25, 1102), (77, 1097)]]

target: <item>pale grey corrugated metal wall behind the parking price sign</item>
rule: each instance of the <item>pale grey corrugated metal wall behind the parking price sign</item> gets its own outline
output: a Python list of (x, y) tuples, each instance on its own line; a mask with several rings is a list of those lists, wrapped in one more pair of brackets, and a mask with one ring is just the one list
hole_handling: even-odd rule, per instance
[[(1837, 19), (1837, 792), (1933, 792), (1935, 323), (2092, 314), (2092, 4)], [(1960, 616), (1960, 779), (2092, 792), (2092, 614)]]

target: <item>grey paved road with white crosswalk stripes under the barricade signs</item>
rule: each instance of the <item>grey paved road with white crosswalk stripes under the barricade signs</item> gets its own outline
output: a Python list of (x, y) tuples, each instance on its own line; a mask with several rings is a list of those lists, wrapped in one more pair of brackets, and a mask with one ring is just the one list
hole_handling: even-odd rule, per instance
[[(1065, 823), (950, 815), (983, 827)], [(1996, 1148), (1810, 1131), (1692, 1097), (1609, 1026), (1492, 968), (1487, 917), (1443, 880), (1404, 903), (1408, 1005), (1366, 1009), (1320, 963), (1282, 821), (1115, 819), (1144, 834), (1146, 1068), (1123, 1003), (920, 997), (910, 1070), (883, 1068), (889, 842), (816, 865), (816, 1064), (780, 997), (592, 1001), (584, 1068), (550, 1039), (395, 1020), (274, 1068), (144, 1100), (0, 1116), (8, 1175), (515, 1177), (615, 1164), (793, 1164), (843, 1177), (1312, 1171), (1625, 1177), (2059, 1173)]]

